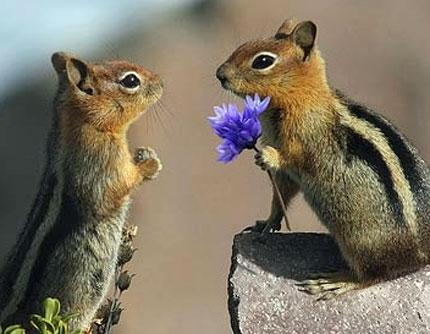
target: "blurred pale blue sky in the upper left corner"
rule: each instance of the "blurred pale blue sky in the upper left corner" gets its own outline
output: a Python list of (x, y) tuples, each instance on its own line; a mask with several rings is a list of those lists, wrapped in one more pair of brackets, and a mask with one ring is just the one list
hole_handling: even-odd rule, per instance
[(194, 0), (4, 1), (0, 20), (0, 98), (45, 73), (57, 50), (91, 53), (128, 29)]

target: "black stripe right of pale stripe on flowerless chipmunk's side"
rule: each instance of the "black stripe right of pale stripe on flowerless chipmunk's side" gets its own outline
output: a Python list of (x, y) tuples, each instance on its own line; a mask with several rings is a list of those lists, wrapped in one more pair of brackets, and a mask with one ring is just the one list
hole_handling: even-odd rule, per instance
[[(70, 188), (71, 187), (67, 186), (67, 184), (64, 185), (61, 211), (40, 246), (37, 260), (31, 271), (24, 299), (20, 301), (22, 303), (20, 307), (24, 307), (23, 304), (31, 301), (32, 296), (37, 294), (41, 280), (46, 279), (44, 276), (46, 275), (47, 267), (50, 263), (49, 260), (54, 255), (55, 250), (64, 244), (64, 242), (79, 229), (82, 223), (84, 223), (79, 203), (77, 203), (72, 196), (67, 194), (67, 189)], [(65, 255), (66, 254), (63, 254), (63, 256)], [(55, 261), (58, 263), (58, 260), (59, 259), (56, 259)], [(67, 263), (64, 263), (64, 265), (67, 266)]]

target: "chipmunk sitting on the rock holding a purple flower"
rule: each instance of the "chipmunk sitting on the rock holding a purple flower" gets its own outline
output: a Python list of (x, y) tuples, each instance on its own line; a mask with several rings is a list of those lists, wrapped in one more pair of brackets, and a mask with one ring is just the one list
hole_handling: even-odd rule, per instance
[[(429, 263), (430, 171), (386, 118), (331, 88), (316, 35), (313, 22), (286, 20), (216, 75), (240, 97), (271, 97), (256, 163), (276, 173), (286, 202), (302, 191), (337, 242), (350, 270), (299, 284), (330, 299)], [(274, 196), (265, 223), (278, 230), (281, 218)]]

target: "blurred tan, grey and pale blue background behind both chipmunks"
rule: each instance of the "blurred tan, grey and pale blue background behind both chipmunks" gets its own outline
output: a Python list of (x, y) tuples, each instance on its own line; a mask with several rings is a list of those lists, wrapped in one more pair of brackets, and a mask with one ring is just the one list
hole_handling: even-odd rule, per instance
[[(130, 131), (161, 156), (159, 179), (134, 195), (137, 274), (116, 333), (229, 333), (227, 275), (235, 233), (270, 207), (264, 173), (245, 153), (216, 162), (212, 106), (239, 102), (214, 73), (241, 43), (290, 16), (314, 20), (332, 85), (374, 107), (430, 161), (430, 2), (415, 0), (8, 1), (0, 21), (0, 258), (25, 221), (43, 171), (55, 93), (54, 51), (124, 58), (161, 74), (162, 107)], [(297, 198), (296, 231), (321, 231)]]

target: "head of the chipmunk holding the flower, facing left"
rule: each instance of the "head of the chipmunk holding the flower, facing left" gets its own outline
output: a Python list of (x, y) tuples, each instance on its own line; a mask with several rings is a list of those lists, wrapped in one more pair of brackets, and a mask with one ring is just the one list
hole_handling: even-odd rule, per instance
[[(222, 64), (216, 76), (221, 85), (239, 96), (278, 96), (325, 82), (324, 63), (316, 49), (317, 27), (311, 21), (286, 20), (275, 36), (240, 46)], [(281, 99), (281, 97), (279, 97)], [(279, 100), (278, 99), (278, 100)]]

